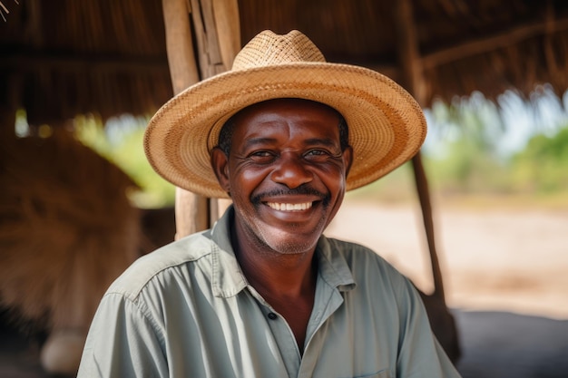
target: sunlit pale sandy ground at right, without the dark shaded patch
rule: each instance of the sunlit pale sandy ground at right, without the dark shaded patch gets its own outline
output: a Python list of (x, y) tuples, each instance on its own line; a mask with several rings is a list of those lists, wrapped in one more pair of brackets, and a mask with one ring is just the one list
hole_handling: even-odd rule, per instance
[[(435, 208), (448, 305), (568, 319), (568, 210)], [(346, 200), (326, 234), (372, 247), (432, 288), (420, 209)]]

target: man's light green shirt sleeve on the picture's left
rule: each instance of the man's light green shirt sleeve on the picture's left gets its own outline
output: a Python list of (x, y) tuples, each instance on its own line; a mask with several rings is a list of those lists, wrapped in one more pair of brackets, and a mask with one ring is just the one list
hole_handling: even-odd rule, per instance
[(162, 334), (140, 305), (107, 294), (94, 315), (77, 377), (168, 377), (162, 348)]

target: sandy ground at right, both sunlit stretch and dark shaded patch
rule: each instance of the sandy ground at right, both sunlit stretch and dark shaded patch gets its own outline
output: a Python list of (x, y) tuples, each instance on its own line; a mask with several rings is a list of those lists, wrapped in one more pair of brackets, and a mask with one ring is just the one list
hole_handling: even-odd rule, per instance
[[(568, 377), (568, 210), (435, 208), (464, 378)], [(372, 247), (432, 288), (420, 209), (346, 200), (328, 236)]]

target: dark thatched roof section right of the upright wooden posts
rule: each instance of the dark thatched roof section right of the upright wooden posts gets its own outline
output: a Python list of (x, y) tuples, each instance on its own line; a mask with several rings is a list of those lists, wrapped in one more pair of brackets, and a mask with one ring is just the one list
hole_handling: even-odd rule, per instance
[[(550, 83), (568, 89), (568, 2), (563, 0), (240, 1), (243, 41), (264, 28), (302, 30), (328, 60), (420, 78), (422, 105), (480, 91), (525, 97)], [(404, 15), (401, 6), (409, 8)], [(406, 34), (415, 34), (406, 46)], [(411, 56), (405, 49), (414, 49)], [(408, 62), (412, 60), (413, 62)], [(417, 93), (415, 93), (417, 94)]]

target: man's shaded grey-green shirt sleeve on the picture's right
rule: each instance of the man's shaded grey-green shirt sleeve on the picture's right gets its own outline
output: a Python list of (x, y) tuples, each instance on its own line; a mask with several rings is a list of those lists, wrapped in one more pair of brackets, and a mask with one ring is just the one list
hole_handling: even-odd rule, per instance
[(431, 331), (426, 308), (416, 288), (405, 278), (401, 289), (397, 377), (459, 378), (460, 374)]

